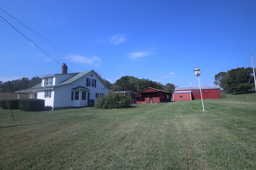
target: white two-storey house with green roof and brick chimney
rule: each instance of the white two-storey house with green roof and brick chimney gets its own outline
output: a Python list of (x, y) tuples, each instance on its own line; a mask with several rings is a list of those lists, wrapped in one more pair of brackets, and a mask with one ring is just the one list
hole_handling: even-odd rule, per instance
[(96, 102), (98, 97), (110, 92), (94, 70), (67, 73), (66, 64), (62, 65), (62, 74), (40, 78), (40, 84), (17, 91), (18, 98), (20, 93), (29, 93), (29, 98), (45, 100), (46, 107), (65, 109), (91, 106), (93, 100)]

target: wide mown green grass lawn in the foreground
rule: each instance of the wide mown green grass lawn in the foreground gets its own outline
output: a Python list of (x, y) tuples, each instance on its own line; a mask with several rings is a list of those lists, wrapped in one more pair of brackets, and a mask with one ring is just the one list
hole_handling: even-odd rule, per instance
[[(247, 99), (248, 98), (248, 99)], [(0, 169), (256, 169), (256, 94), (130, 109), (0, 109)]]

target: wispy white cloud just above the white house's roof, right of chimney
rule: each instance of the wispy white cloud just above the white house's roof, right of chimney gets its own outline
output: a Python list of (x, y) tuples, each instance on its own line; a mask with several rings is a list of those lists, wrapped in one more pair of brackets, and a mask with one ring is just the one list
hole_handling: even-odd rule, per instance
[[(70, 57), (68, 57), (70, 58)], [(76, 63), (85, 63), (85, 64), (89, 64), (89, 65), (94, 65), (96, 67), (100, 66), (101, 64), (101, 59), (99, 57), (93, 56), (93, 57), (84, 57), (82, 55), (73, 55), (73, 57), (71, 58), (72, 61), (76, 62)]]

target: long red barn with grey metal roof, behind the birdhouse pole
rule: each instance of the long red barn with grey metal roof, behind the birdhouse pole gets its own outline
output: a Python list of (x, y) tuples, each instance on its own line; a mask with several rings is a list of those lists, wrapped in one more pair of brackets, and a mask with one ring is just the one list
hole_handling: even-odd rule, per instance
[[(220, 99), (220, 86), (201, 86), (203, 99)], [(173, 100), (201, 99), (199, 86), (176, 87), (172, 94)]]

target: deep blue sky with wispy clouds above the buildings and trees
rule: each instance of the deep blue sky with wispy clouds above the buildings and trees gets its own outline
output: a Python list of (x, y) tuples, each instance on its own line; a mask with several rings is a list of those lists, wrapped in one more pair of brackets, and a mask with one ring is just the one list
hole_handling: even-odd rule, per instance
[[(214, 85), (256, 63), (255, 0), (1, 0), (0, 81), (95, 70)], [(12, 25), (12, 26), (11, 26)], [(26, 26), (24, 26), (26, 25)], [(17, 31), (17, 30), (18, 31)], [(256, 65), (256, 64), (254, 64)]]

